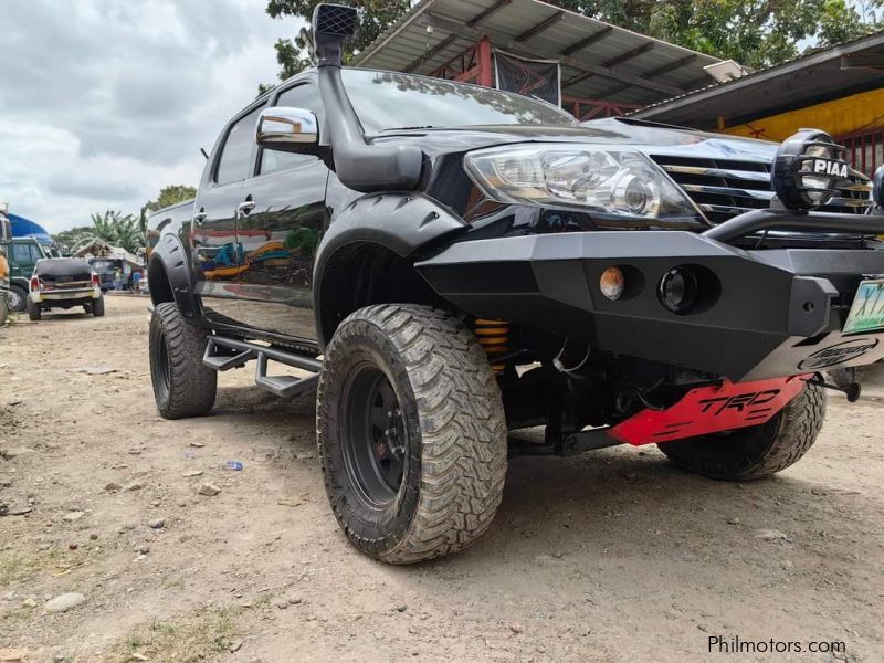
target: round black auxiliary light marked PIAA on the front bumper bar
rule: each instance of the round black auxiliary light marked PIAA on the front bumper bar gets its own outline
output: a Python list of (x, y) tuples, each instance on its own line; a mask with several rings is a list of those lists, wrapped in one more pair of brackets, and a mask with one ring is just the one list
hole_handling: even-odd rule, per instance
[(825, 131), (801, 129), (787, 138), (774, 160), (771, 181), (777, 197), (790, 209), (824, 206), (846, 183), (846, 149)]

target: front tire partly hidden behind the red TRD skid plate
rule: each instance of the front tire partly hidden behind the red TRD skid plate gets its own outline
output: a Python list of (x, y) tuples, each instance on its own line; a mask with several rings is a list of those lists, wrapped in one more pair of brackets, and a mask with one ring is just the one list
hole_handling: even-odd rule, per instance
[(764, 478), (797, 463), (813, 445), (824, 418), (824, 389), (807, 385), (767, 423), (657, 446), (687, 472), (724, 481)]

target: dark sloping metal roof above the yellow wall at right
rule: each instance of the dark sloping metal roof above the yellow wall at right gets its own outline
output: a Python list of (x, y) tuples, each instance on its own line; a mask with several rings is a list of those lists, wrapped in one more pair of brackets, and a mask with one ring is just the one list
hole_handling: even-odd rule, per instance
[[(876, 60), (877, 69), (861, 57)], [(631, 116), (709, 129), (718, 117), (733, 126), (882, 86), (884, 31), (657, 102)]]

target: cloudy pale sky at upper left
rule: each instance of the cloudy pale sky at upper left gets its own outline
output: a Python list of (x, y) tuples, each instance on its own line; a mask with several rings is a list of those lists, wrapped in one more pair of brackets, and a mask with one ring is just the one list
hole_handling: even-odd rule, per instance
[(276, 83), (266, 0), (0, 0), (0, 201), (50, 232), (197, 186), (227, 120)]

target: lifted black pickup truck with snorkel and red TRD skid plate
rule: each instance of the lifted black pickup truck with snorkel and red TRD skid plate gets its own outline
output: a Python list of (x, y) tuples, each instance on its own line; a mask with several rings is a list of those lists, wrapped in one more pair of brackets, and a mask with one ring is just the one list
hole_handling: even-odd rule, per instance
[(318, 387), (333, 511), (406, 564), (486, 530), (514, 454), (656, 443), (758, 478), (811, 446), (824, 389), (857, 397), (823, 371), (884, 356), (884, 212), (829, 136), (581, 125), (341, 69), (354, 15), (317, 8), (316, 70), (235, 116), (196, 201), (150, 220), (164, 417), (209, 413), (217, 371), (251, 360), (276, 394)]

